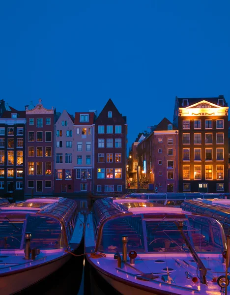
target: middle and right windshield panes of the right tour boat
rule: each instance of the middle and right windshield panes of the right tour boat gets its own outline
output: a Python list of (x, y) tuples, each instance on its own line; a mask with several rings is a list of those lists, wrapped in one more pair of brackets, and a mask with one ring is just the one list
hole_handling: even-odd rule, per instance
[[(190, 252), (176, 226), (177, 220), (146, 220), (148, 252)], [(189, 216), (183, 221), (183, 232), (197, 253), (222, 253), (223, 229), (207, 217)]]

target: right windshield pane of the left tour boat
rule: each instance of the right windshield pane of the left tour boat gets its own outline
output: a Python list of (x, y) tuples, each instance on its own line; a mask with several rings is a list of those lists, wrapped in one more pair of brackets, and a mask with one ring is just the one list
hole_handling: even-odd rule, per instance
[(41, 216), (29, 216), (26, 232), (31, 233), (31, 249), (58, 249), (63, 247), (64, 241), (61, 225), (55, 219)]

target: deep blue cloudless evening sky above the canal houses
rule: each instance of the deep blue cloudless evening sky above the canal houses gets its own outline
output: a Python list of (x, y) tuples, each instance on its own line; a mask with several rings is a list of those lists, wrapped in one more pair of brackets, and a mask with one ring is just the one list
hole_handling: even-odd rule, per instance
[(74, 114), (111, 98), (128, 146), (175, 96), (230, 102), (229, 0), (6, 0), (0, 28), (0, 99)]

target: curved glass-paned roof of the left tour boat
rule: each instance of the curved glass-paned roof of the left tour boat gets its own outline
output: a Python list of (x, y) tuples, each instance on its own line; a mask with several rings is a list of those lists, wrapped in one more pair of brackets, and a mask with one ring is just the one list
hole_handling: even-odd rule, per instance
[(67, 198), (34, 198), (26, 201), (1, 205), (1, 214), (43, 214), (67, 222), (77, 208), (77, 202)]

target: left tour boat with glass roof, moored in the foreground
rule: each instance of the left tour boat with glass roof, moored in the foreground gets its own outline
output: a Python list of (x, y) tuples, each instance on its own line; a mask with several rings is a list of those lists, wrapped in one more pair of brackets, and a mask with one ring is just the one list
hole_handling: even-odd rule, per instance
[(19, 292), (63, 266), (81, 243), (83, 225), (74, 200), (0, 204), (0, 295)]

